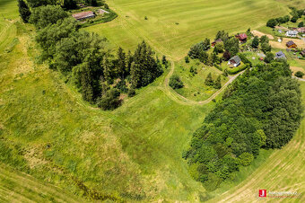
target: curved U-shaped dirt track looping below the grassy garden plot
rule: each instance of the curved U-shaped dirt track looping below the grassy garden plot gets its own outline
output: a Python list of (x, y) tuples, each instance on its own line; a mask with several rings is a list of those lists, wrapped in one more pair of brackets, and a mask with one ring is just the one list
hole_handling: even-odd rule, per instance
[(216, 93), (213, 93), (213, 95), (211, 97), (209, 97), (208, 99), (204, 100), (204, 101), (192, 101), (187, 99), (186, 97), (182, 96), (179, 93), (176, 93), (176, 91), (174, 91), (171, 87), (170, 87), (170, 76), (173, 75), (175, 70), (175, 63), (173, 61), (171, 61), (171, 68), (170, 68), (170, 73), (168, 75), (166, 75), (165, 79), (164, 79), (164, 89), (162, 88), (162, 91), (166, 94), (168, 94), (168, 96), (170, 97), (170, 99), (172, 99), (175, 102), (179, 102), (180, 104), (184, 104), (184, 105), (204, 105), (207, 104), (209, 102), (212, 102), (213, 99), (216, 98), (216, 96), (218, 96), (220, 93), (222, 93), (222, 91), (229, 85), (231, 84), (239, 75), (241, 75), (242, 73), (244, 73), (245, 71), (241, 71), (239, 74), (237, 75), (233, 75), (230, 76), (230, 80), (226, 83), (222, 85), (222, 88), (219, 89)]

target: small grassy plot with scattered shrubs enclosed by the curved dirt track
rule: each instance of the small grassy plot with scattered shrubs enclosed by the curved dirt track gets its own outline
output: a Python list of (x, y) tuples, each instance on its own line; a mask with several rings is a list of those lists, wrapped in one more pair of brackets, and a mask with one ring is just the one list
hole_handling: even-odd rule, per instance
[[(193, 66), (196, 68), (195, 75), (190, 73), (190, 68)], [(183, 60), (180, 60), (175, 65), (174, 75), (179, 75), (181, 81), (184, 84), (183, 88), (175, 90), (177, 93), (186, 97), (187, 99), (193, 101), (204, 101), (208, 99), (217, 91), (211, 86), (205, 85), (206, 76), (211, 73), (213, 80), (216, 80), (218, 75), (222, 75), (222, 71), (218, 70), (213, 66), (205, 66), (203, 63), (200, 63), (198, 60), (190, 60), (190, 63), (186, 63)], [(222, 85), (228, 81), (228, 78), (222, 76)]]

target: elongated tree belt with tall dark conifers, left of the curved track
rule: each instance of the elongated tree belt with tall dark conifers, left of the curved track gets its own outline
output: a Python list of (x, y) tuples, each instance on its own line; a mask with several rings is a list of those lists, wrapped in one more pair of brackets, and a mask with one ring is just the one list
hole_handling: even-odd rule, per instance
[(119, 48), (113, 56), (106, 39), (79, 31), (79, 24), (58, 5), (34, 8), (30, 22), (38, 30), (36, 41), (42, 59), (73, 82), (83, 100), (97, 103), (104, 110), (121, 104), (120, 93), (134, 96), (135, 88), (151, 84), (163, 72), (161, 62), (144, 41), (135, 54), (129, 51), (126, 55)]

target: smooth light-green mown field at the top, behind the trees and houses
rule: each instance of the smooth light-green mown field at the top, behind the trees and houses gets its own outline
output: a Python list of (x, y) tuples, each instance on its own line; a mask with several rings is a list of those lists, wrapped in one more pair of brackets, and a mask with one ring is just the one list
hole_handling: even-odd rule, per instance
[(140, 40), (146, 40), (153, 49), (175, 60), (184, 57), (192, 44), (205, 37), (213, 39), (219, 30), (246, 31), (287, 13), (283, 4), (274, 0), (115, 0), (109, 5), (118, 18), (88, 31), (100, 33), (126, 49), (134, 49)]

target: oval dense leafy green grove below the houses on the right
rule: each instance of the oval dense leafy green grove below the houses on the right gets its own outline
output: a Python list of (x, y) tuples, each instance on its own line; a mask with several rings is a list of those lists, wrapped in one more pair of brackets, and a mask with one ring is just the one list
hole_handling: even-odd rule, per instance
[(231, 84), (183, 153), (189, 172), (214, 190), (250, 164), (259, 149), (280, 148), (301, 120), (301, 91), (282, 62), (258, 65)]

